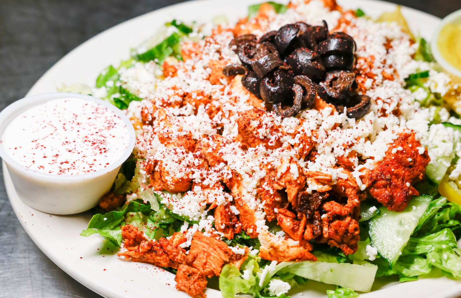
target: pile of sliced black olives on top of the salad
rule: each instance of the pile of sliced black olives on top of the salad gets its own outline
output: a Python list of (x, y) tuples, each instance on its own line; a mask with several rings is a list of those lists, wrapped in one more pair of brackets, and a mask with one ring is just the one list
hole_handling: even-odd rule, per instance
[(231, 45), (242, 64), (229, 64), (226, 76), (244, 75), (242, 85), (281, 117), (295, 116), (309, 108), (316, 93), (349, 118), (360, 119), (370, 108), (370, 97), (358, 95), (355, 41), (343, 32), (329, 33), (322, 26), (287, 24), (257, 39), (236, 37)]

